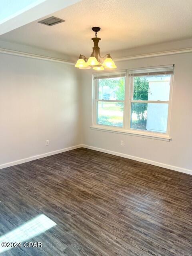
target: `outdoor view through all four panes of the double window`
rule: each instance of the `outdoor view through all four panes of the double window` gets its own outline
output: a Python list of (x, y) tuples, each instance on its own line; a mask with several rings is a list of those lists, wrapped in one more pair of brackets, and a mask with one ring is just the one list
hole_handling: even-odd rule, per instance
[[(165, 133), (170, 75), (134, 76), (132, 91), (130, 128)], [(122, 127), (124, 100), (125, 77), (98, 79), (97, 124)]]

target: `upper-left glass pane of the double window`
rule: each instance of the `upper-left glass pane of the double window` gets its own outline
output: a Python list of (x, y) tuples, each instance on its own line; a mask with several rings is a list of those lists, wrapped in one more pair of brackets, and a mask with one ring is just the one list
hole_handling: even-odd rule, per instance
[(99, 100), (124, 100), (125, 77), (98, 79)]

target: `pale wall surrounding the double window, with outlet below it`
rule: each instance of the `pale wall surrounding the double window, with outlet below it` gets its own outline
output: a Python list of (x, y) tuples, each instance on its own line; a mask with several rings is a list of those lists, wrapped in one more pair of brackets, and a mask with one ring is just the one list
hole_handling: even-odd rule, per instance
[[(192, 53), (116, 62), (120, 70), (168, 64), (175, 64), (170, 142), (91, 130), (92, 71), (82, 70), (83, 144), (174, 170), (192, 170)], [(120, 140), (124, 140), (124, 146), (120, 146)]]

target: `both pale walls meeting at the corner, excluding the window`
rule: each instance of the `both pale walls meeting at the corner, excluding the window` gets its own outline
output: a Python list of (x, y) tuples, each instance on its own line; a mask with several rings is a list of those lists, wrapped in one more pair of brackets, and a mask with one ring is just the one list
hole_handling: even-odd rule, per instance
[(80, 81), (72, 65), (0, 54), (0, 168), (83, 141), (167, 168), (192, 170), (192, 53), (116, 64), (119, 70), (175, 64), (170, 142), (91, 130), (92, 71), (80, 70)]

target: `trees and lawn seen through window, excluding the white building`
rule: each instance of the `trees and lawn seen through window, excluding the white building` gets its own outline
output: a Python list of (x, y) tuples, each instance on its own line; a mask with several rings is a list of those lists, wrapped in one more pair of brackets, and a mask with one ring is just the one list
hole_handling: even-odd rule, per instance
[[(135, 77), (134, 79), (134, 100), (148, 100), (149, 83), (146, 78)], [(125, 77), (108, 78), (98, 80), (98, 98), (100, 100), (124, 100)], [(98, 124), (122, 127), (123, 125), (122, 102), (98, 102)], [(140, 129), (146, 127), (147, 104), (136, 103), (132, 105), (132, 111), (136, 118), (132, 120), (132, 128)]]

